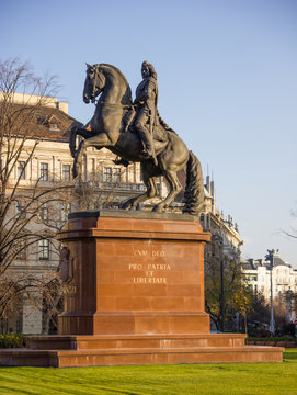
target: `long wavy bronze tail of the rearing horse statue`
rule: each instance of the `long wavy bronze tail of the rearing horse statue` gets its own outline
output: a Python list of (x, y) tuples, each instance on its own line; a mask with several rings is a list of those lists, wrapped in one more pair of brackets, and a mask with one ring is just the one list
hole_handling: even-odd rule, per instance
[(204, 202), (202, 167), (198, 158), (192, 151), (189, 151), (189, 154), (183, 213), (199, 215)]

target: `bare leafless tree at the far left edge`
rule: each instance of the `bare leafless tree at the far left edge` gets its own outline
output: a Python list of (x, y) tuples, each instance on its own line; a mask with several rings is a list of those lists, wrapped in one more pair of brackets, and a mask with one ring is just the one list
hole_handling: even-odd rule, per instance
[(31, 65), (18, 59), (0, 63), (0, 318), (21, 294), (43, 287), (45, 275), (28, 268), (15, 270), (31, 246), (55, 236), (50, 226), (36, 226), (41, 212), (57, 201), (55, 192), (69, 185), (44, 185), (44, 172), (24, 181), (37, 146), (48, 128), (39, 111), (57, 93), (56, 78), (36, 77)]

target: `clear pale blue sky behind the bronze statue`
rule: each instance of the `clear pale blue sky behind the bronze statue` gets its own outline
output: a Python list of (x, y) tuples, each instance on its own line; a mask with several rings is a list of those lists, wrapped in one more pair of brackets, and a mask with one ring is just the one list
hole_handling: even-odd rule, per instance
[(85, 61), (110, 63), (133, 92), (156, 67), (159, 111), (214, 174), (239, 224), (242, 256), (267, 248), (297, 268), (297, 2), (289, 0), (0, 0), (0, 58), (58, 76), (59, 99), (88, 122)]

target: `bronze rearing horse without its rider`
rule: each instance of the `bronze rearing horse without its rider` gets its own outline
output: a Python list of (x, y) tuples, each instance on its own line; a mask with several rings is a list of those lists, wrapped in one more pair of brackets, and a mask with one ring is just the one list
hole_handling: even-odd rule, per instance
[[(70, 134), (70, 150), (75, 158), (73, 177), (81, 172), (81, 160), (85, 148), (105, 147), (126, 161), (140, 161), (147, 191), (124, 202), (122, 208), (136, 207), (139, 203), (157, 196), (156, 177), (164, 176), (170, 185), (169, 194), (153, 207), (153, 211), (162, 212), (182, 190), (178, 172), (186, 166), (183, 212), (199, 214), (204, 200), (204, 184), (201, 163), (196, 156), (189, 151), (184, 142), (173, 131), (160, 123), (153, 136), (158, 166), (153, 163), (152, 158), (144, 153), (141, 140), (133, 131), (133, 126), (127, 127), (128, 121), (125, 119), (133, 109), (132, 91), (125, 76), (116, 67), (107, 64), (87, 65), (83, 101), (94, 102), (99, 94), (101, 95), (91, 121), (82, 128), (72, 128)], [(84, 137), (78, 149), (76, 149), (77, 135)]]

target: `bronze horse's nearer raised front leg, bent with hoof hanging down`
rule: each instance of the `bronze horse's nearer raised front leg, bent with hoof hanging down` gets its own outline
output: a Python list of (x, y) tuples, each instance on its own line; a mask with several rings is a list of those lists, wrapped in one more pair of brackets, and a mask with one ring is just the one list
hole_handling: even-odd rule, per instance
[(79, 147), (75, 154), (75, 161), (72, 168), (73, 178), (81, 174), (82, 156), (88, 147), (95, 147), (96, 149), (101, 149), (103, 147), (110, 147), (113, 145), (113, 143), (105, 133), (101, 133), (94, 136), (94, 134), (89, 131), (80, 129), (80, 133), (77, 132), (77, 134), (82, 135), (82, 131), (84, 131), (83, 137), (85, 136), (85, 139), (80, 142)]

